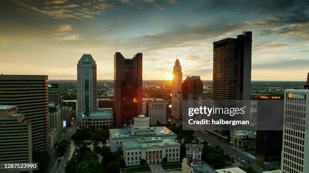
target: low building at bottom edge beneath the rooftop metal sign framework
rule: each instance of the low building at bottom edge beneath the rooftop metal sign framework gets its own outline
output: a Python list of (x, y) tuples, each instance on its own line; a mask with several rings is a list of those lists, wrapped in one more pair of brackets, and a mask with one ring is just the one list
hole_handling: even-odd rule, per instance
[(210, 165), (205, 162), (199, 164), (192, 164), (188, 158), (183, 158), (181, 163), (181, 173), (217, 173)]

